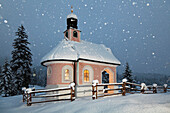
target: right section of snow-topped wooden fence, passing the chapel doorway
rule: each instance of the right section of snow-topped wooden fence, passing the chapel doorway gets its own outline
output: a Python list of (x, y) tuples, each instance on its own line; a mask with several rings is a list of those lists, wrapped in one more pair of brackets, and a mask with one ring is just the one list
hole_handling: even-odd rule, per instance
[[(118, 86), (117, 88), (103, 88), (98, 89), (101, 86)], [(104, 97), (104, 96), (111, 96), (111, 95), (119, 95), (125, 96), (126, 93), (134, 94), (134, 93), (142, 93), (142, 94), (153, 94), (159, 92), (166, 93), (169, 91), (170, 88), (165, 84), (163, 86), (157, 86), (157, 84), (148, 85), (146, 86), (144, 83), (142, 84), (136, 84), (136, 83), (130, 83), (130, 82), (121, 82), (121, 83), (107, 83), (107, 84), (98, 84), (94, 83), (92, 84), (92, 99), (97, 99), (98, 97)], [(117, 93), (114, 91), (118, 90)], [(108, 91), (108, 92), (106, 92)], [(112, 91), (112, 92), (109, 92)], [(102, 93), (100, 93), (102, 92)]]

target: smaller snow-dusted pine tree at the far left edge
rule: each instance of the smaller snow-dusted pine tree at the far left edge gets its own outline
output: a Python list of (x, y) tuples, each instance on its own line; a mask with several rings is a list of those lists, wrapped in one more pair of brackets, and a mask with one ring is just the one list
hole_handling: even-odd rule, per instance
[(11, 77), (11, 70), (10, 70), (10, 65), (8, 63), (8, 60), (5, 61), (5, 64), (3, 65), (2, 69), (2, 81), (1, 81), (1, 86), (2, 86), (2, 92), (4, 93), (5, 97), (10, 96), (12, 91), (12, 77)]

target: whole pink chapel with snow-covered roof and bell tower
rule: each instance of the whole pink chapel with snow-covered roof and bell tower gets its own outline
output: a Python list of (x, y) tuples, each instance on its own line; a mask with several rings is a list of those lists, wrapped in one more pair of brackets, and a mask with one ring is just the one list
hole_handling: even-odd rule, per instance
[(64, 39), (41, 60), (47, 67), (46, 88), (65, 87), (70, 82), (76, 86), (91, 85), (96, 79), (99, 83), (116, 82), (120, 61), (105, 45), (81, 40), (77, 23), (78, 18), (71, 10)]

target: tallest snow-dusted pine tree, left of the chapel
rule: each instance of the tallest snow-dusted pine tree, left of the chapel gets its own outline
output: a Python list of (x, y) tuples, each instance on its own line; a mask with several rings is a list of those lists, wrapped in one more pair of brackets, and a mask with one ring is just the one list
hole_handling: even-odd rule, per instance
[(32, 54), (28, 45), (28, 35), (25, 28), (21, 25), (16, 32), (17, 38), (14, 39), (11, 60), (12, 73), (15, 76), (17, 94), (21, 94), (22, 87), (29, 87), (32, 65)]

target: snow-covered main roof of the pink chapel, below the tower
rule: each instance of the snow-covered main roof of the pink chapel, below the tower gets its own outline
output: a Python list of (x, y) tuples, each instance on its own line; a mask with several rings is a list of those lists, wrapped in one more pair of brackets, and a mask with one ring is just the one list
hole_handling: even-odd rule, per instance
[(41, 63), (55, 60), (75, 61), (79, 59), (120, 64), (120, 61), (112, 54), (111, 49), (105, 47), (103, 44), (94, 44), (83, 40), (75, 42), (65, 39), (45, 55)]

